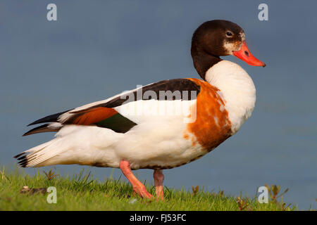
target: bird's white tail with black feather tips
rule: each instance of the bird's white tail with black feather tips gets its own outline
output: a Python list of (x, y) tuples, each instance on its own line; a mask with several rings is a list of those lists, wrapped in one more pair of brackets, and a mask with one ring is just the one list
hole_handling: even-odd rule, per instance
[[(53, 158), (61, 153), (65, 148), (62, 147), (63, 138), (57, 137), (42, 145), (25, 150), (23, 153), (15, 155), (14, 158), (19, 160), (21, 167), (38, 167), (44, 166), (43, 162)], [(41, 165), (42, 164), (42, 165)]]

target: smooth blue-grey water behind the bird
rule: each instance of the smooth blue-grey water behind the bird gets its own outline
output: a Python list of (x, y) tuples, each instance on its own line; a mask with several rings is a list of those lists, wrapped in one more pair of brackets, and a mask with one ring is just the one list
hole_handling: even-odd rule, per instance
[[(283, 200), (317, 208), (316, 1), (54, 1), (58, 20), (46, 20), (50, 1), (0, 2), (0, 164), (51, 139), (21, 137), (26, 124), (137, 84), (198, 77), (190, 58), (192, 32), (212, 19), (232, 20), (247, 34), (255, 68), (229, 56), (251, 75), (256, 108), (242, 129), (200, 160), (165, 170), (165, 185), (204, 186), (253, 196), (264, 184), (290, 188)], [(63, 174), (80, 166), (57, 166)], [(111, 168), (91, 168), (99, 179)], [(33, 173), (33, 169), (25, 169)], [(152, 182), (152, 171), (137, 170)], [(113, 176), (120, 176), (115, 169)]]

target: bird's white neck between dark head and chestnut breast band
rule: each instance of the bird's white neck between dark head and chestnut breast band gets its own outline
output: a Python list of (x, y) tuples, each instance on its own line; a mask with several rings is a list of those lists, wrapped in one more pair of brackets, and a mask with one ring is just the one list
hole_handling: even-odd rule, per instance
[(240, 65), (222, 60), (206, 72), (206, 81), (220, 90), (235, 134), (254, 109), (256, 89), (251, 77)]

